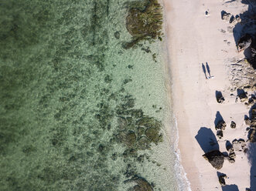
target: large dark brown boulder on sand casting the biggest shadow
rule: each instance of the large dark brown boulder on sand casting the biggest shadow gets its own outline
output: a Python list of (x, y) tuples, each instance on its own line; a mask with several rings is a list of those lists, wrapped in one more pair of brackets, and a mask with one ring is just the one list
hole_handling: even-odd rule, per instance
[(219, 150), (207, 152), (203, 155), (203, 158), (207, 159), (215, 169), (221, 169), (224, 164), (224, 154)]

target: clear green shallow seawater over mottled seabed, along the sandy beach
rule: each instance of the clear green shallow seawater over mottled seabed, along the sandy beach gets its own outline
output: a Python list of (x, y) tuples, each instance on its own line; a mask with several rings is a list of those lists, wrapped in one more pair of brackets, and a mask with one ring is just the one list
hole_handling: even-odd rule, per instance
[(162, 42), (122, 48), (125, 2), (0, 2), (0, 190), (177, 190)]

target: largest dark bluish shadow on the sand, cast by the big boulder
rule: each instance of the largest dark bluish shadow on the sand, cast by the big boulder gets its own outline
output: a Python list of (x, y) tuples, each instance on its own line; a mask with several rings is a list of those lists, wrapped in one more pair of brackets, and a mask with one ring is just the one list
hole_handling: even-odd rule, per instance
[(201, 127), (195, 138), (198, 144), (201, 146), (201, 149), (203, 149), (203, 152), (207, 153), (211, 150), (219, 150), (219, 144), (212, 129)]

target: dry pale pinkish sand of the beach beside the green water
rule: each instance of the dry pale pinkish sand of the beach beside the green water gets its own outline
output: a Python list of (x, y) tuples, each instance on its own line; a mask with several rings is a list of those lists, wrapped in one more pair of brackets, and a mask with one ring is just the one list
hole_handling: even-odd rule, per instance
[[(247, 10), (247, 6), (237, 1), (224, 4), (222, 0), (163, 0), (163, 5), (172, 73), (172, 104), (179, 129), (181, 163), (191, 189), (235, 191), (250, 188), (251, 166), (244, 152), (236, 152), (235, 163), (225, 160), (224, 167), (217, 170), (203, 159), (202, 142), (199, 144), (195, 138), (202, 127), (211, 129), (216, 135), (214, 120), (217, 111), (227, 122), (224, 138), (217, 138), (221, 152), (227, 152), (226, 140), (232, 142), (247, 137), (244, 115), (248, 109), (243, 103), (236, 103), (235, 96), (230, 95), (226, 65), (229, 60), (242, 59), (244, 55), (237, 52), (233, 33), (227, 31), (230, 24), (224, 22), (220, 14), (225, 10), (236, 15)], [(206, 62), (214, 79), (206, 79), (203, 74), (202, 63)], [(223, 93), (226, 99), (223, 104), (217, 103), (216, 90)], [(230, 128), (231, 121), (237, 123), (237, 129)], [(226, 183), (234, 184), (233, 187), (222, 188), (217, 172), (227, 174)]]

